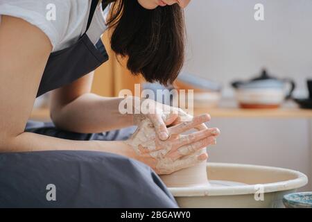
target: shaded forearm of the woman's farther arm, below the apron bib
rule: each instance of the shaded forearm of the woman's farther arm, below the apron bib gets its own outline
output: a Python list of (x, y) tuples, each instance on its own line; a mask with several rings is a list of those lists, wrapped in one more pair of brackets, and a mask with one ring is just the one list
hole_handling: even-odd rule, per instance
[(58, 128), (76, 133), (100, 133), (133, 125), (132, 114), (121, 114), (121, 98), (106, 98), (87, 93), (51, 110), (51, 118)]

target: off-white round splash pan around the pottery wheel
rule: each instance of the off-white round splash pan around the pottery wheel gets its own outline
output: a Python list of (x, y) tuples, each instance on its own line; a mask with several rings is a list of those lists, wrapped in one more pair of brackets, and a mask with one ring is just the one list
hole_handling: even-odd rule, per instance
[(169, 187), (180, 207), (284, 207), (283, 196), (308, 183), (299, 171), (248, 164), (208, 163), (207, 175), (211, 182), (225, 180), (245, 185)]

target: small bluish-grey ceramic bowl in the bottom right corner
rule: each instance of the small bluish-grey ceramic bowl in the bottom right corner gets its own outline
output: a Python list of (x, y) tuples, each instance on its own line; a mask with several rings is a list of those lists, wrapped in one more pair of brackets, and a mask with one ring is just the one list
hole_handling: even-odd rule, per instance
[(312, 208), (312, 192), (287, 194), (283, 203), (287, 208)]

